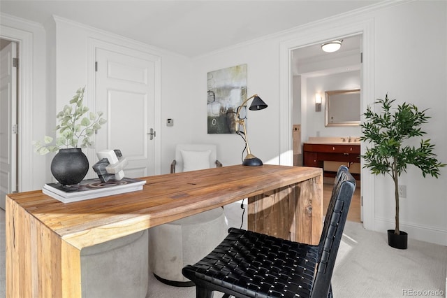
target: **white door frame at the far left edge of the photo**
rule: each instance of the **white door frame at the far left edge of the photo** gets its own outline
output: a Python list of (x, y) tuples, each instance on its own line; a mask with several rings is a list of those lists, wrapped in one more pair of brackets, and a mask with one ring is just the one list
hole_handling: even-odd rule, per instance
[(0, 24), (0, 38), (17, 43), (17, 183), (18, 192), (33, 189), (33, 34)]

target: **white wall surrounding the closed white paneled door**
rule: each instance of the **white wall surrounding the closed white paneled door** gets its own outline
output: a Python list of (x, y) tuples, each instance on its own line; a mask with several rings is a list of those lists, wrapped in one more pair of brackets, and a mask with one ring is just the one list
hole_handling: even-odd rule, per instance
[[(82, 24), (71, 22), (55, 17), (53, 22), (47, 24), (47, 31), (54, 31), (55, 55), (49, 57), (54, 59), (54, 73), (48, 73), (49, 90), (54, 94), (56, 111), (68, 102), (75, 90), (87, 86), (87, 104), (94, 106), (94, 95), (88, 92), (93, 90), (89, 85), (91, 81), (94, 60), (89, 55), (91, 40), (120, 45), (125, 48), (145, 52), (161, 58), (161, 115), (158, 125), (160, 131), (156, 132), (156, 140), (161, 139), (161, 173), (169, 173), (169, 164), (174, 159), (174, 148), (176, 143), (189, 142), (193, 132), (189, 126), (188, 116), (190, 91), (191, 62), (182, 55), (177, 55), (165, 50), (154, 48), (150, 45), (138, 43), (122, 36), (109, 34), (98, 29), (86, 27)], [(55, 76), (54, 76), (55, 74)], [(54, 104), (52, 104), (54, 107)], [(166, 119), (175, 120), (174, 127), (166, 126)], [(54, 127), (55, 118), (53, 119)], [(129, 124), (129, 127), (131, 125)], [(101, 132), (99, 132), (101, 133)], [(93, 154), (94, 155), (94, 154)], [(51, 178), (51, 176), (47, 177)]]

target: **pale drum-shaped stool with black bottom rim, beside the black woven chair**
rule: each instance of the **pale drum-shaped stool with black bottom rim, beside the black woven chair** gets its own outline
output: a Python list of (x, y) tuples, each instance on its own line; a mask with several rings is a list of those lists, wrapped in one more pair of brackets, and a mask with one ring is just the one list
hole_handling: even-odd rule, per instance
[(215, 208), (149, 229), (149, 267), (168, 285), (190, 287), (182, 269), (210, 253), (228, 234), (223, 208)]

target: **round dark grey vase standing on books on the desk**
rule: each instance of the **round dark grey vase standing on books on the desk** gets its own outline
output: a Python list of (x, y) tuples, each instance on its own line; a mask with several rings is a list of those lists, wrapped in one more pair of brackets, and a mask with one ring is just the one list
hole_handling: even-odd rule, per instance
[(78, 184), (89, 171), (89, 159), (80, 148), (60, 149), (51, 162), (51, 173), (63, 185)]

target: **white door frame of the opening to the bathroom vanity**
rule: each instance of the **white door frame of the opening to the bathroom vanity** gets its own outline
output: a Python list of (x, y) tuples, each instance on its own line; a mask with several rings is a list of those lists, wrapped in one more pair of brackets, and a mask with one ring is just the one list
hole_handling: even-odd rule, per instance
[[(362, 103), (363, 109), (374, 102), (374, 20), (363, 17), (334, 17), (318, 24), (309, 24), (302, 27), (297, 38), (284, 41), (280, 45), (279, 62), (279, 113), (280, 113), (280, 134), (279, 163), (284, 165), (293, 165), (292, 136), (290, 134), (292, 127), (291, 112), (292, 97), (292, 79), (291, 55), (297, 48), (303, 48), (322, 41), (338, 39), (346, 36), (362, 34)], [(360, 151), (365, 153), (364, 144), (360, 144)], [(374, 176), (362, 169), (362, 208), (363, 208), (363, 226), (366, 229), (374, 230)]]

